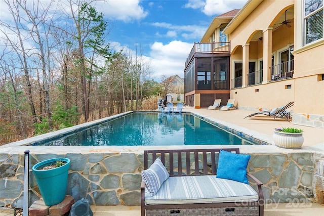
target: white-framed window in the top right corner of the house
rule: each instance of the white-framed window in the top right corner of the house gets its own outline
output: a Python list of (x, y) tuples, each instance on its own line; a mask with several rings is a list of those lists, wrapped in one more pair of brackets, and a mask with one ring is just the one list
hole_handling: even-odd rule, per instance
[(323, 38), (323, 0), (304, 0), (304, 44)]

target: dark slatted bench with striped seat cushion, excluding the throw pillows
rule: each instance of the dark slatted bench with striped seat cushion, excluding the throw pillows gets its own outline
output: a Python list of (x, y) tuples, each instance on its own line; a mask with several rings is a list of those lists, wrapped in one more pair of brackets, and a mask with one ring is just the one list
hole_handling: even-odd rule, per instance
[[(223, 149), (239, 154), (238, 148)], [(215, 178), (221, 149), (144, 151), (144, 170), (156, 158), (170, 177), (154, 196), (141, 185), (141, 215), (263, 215), (262, 183), (247, 174), (255, 186)], [(229, 161), (229, 163), (231, 163)]]

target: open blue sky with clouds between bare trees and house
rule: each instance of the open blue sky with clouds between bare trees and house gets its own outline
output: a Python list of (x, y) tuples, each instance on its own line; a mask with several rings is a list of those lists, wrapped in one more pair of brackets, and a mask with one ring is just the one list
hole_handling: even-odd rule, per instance
[[(184, 76), (184, 63), (215, 16), (240, 9), (247, 0), (108, 0), (103, 14), (116, 50), (142, 50), (152, 77)], [(101, 8), (101, 7), (100, 7)]]

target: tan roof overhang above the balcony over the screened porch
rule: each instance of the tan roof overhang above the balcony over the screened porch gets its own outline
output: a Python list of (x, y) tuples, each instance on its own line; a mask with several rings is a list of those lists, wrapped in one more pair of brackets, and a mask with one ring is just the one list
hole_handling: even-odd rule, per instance
[(207, 28), (207, 30), (206, 30), (204, 36), (201, 38), (200, 42), (210, 42), (209, 41), (210, 36), (213, 34), (215, 29), (224, 23), (229, 23), (233, 19), (233, 17), (235, 17), (235, 15), (239, 12), (239, 10), (240, 9), (234, 9), (234, 10), (231, 10), (224, 14), (221, 14), (217, 17), (214, 17), (213, 21)]

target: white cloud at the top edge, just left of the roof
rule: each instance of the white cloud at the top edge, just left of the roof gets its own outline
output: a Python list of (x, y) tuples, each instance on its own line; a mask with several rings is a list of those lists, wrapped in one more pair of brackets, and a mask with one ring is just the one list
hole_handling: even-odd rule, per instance
[(207, 16), (213, 16), (240, 9), (246, 3), (247, 0), (189, 0), (185, 8), (200, 9)]

